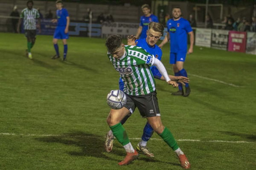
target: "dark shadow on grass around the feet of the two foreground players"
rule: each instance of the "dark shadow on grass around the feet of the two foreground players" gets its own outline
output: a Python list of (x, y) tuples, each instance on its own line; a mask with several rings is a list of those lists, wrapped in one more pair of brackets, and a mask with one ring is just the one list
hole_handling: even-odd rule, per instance
[[(60, 143), (66, 145), (74, 145), (81, 148), (81, 151), (68, 151), (67, 153), (71, 156), (93, 156), (96, 158), (104, 158), (112, 161), (121, 161), (119, 159), (113, 159), (111, 157), (106, 156), (105, 154), (114, 154), (117, 156), (125, 157), (124, 148), (117, 143), (115, 140), (113, 150), (111, 153), (107, 153), (104, 147), (105, 138), (103, 136), (98, 136), (95, 134), (84, 133), (81, 131), (76, 131), (72, 133), (64, 133), (59, 136), (45, 136), (40, 138), (35, 138), (40, 142), (48, 142), (48, 143)], [(148, 158), (140, 154), (140, 159), (146, 162), (160, 162), (165, 164), (172, 164), (175, 166), (180, 166), (177, 163), (159, 161), (154, 158)]]

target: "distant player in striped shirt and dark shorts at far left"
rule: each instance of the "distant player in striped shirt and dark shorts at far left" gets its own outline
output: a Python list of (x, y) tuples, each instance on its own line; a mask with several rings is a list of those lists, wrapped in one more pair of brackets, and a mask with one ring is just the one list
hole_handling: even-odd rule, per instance
[(20, 33), (20, 23), (23, 19), (23, 28), (25, 31), (25, 36), (27, 38), (27, 48), (26, 56), (29, 59), (32, 59), (31, 48), (35, 44), (35, 36), (36, 36), (36, 19), (38, 19), (39, 33), (41, 32), (41, 20), (38, 10), (33, 8), (33, 1), (29, 0), (26, 3), (27, 8), (23, 9), (20, 14), (20, 19), (17, 26), (17, 32)]

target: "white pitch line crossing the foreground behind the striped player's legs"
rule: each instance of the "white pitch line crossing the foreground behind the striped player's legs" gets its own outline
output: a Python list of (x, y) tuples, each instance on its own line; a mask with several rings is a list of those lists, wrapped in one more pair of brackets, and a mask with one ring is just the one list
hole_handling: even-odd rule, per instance
[[(95, 138), (94, 136), (86, 136), (86, 135), (52, 135), (52, 134), (16, 134), (16, 133), (0, 133), (0, 135), (6, 135), (6, 136), (38, 136), (38, 137), (87, 137), (87, 138)], [(133, 140), (140, 140), (141, 138), (130, 138)], [(163, 139), (157, 139), (157, 138), (151, 138), (150, 140), (163, 140)], [(188, 141), (188, 142), (223, 142), (223, 143), (256, 143), (256, 142), (248, 142), (248, 141), (222, 141), (222, 140), (198, 140), (198, 139), (177, 139), (176, 141)]]

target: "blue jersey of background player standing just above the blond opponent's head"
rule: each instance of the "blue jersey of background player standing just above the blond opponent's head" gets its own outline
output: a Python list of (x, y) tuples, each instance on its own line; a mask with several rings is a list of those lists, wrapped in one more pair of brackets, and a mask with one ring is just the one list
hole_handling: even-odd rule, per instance
[(140, 39), (147, 37), (148, 23), (150, 22), (159, 23), (157, 16), (151, 14), (149, 17), (145, 17), (144, 15), (140, 17), (140, 26), (142, 26)]

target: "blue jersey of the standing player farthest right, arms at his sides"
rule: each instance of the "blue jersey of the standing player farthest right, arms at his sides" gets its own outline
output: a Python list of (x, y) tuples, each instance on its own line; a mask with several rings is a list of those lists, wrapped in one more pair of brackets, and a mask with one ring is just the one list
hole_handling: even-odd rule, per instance
[(187, 34), (192, 31), (190, 23), (184, 18), (167, 21), (167, 31), (170, 34), (171, 52), (187, 51)]

